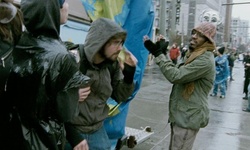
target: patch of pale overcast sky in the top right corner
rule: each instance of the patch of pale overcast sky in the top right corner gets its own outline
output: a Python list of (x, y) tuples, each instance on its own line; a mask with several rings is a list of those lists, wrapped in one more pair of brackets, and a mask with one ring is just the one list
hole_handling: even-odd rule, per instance
[[(250, 0), (233, 0), (234, 3), (250, 2)], [(232, 16), (240, 17), (243, 20), (249, 20), (250, 22), (250, 4), (238, 4), (233, 5)]]

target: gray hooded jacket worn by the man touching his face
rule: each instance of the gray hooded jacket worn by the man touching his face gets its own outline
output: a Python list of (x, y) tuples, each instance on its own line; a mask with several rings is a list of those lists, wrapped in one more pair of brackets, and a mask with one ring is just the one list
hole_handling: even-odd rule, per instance
[[(109, 112), (106, 104), (109, 97), (119, 103), (126, 101), (133, 93), (135, 67), (133, 71), (127, 73), (121, 71), (117, 62), (104, 61), (98, 65), (93, 64), (95, 54), (117, 33), (125, 34), (125, 31), (112, 20), (99, 18), (91, 24), (86, 37), (84, 44), (86, 58), (81, 59), (87, 59), (89, 64), (84, 67), (88, 68), (86, 75), (92, 80), (91, 93), (80, 103), (80, 115), (72, 120), (75, 127), (83, 133), (92, 133), (103, 125)], [(108, 66), (112, 66), (112, 69), (108, 69)]]

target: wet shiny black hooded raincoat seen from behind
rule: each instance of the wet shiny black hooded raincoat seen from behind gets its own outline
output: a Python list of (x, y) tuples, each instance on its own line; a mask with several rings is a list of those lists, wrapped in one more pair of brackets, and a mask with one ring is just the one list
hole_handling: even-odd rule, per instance
[[(37, 134), (44, 145), (32, 145), (27, 140), (29, 144), (36, 149), (58, 149), (57, 144), (64, 142), (61, 141), (63, 138), (55, 139), (54, 143), (44, 142), (47, 138), (44, 135), (55, 133), (58, 129), (52, 126), (53, 122), (61, 129), (57, 137), (64, 137), (64, 123), (78, 113), (79, 86), (89, 78), (78, 71), (73, 56), (59, 37), (59, 1), (22, 0), (21, 10), (27, 31), (13, 50), (14, 67), (7, 92), (27, 130), (24, 138), (29, 139), (31, 134)], [(41, 135), (37, 127), (46, 127), (44, 131), (47, 133)], [(66, 132), (72, 136), (76, 134), (68, 132), (67, 128)]]

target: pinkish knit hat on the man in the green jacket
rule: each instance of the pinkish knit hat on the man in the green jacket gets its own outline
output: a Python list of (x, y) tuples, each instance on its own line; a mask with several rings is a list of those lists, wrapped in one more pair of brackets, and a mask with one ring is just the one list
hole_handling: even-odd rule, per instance
[(210, 22), (203, 22), (199, 24), (197, 27), (195, 27), (193, 30), (196, 30), (200, 33), (202, 33), (205, 37), (208, 38), (210, 42), (214, 44), (214, 36), (216, 34), (216, 27), (214, 24)]

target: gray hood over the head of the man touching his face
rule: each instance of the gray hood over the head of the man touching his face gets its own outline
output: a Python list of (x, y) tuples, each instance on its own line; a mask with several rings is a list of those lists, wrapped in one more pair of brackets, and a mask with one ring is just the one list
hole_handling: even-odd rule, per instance
[(91, 24), (84, 44), (87, 59), (91, 64), (94, 55), (117, 33), (126, 33), (126, 31), (110, 19), (99, 18)]

